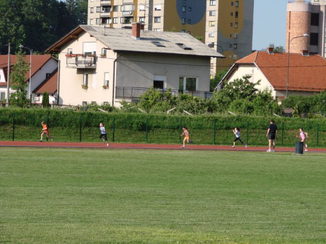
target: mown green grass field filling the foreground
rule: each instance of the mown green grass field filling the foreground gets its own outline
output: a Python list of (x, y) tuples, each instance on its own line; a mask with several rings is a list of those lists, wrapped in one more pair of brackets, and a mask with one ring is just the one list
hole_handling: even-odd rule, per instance
[(0, 243), (325, 243), (323, 154), (0, 148)]

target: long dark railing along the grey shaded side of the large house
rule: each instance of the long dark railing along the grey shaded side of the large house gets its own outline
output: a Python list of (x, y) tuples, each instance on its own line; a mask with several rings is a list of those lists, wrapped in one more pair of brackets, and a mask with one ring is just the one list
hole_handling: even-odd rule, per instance
[[(149, 88), (143, 87), (116, 87), (116, 98), (134, 99), (140, 98)], [(158, 89), (161, 93), (166, 93), (168, 89)], [(179, 93), (190, 94), (193, 97), (202, 99), (210, 99), (213, 96), (211, 92), (190, 91), (190, 90), (171, 90), (173, 96), (178, 96)]]

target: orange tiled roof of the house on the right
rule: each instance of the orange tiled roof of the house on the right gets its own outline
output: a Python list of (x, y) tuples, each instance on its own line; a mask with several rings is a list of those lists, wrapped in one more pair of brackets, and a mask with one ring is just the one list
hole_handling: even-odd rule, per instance
[[(287, 62), (287, 53), (256, 51), (239, 59), (236, 64), (256, 63), (275, 90), (286, 90)], [(288, 90), (322, 92), (325, 89), (326, 59), (320, 55), (290, 53)]]

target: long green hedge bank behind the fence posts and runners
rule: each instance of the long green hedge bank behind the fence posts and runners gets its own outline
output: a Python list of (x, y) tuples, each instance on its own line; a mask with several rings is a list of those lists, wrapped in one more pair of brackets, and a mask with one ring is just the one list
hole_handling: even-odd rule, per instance
[[(38, 141), (41, 121), (50, 135), (61, 142), (99, 141), (99, 123), (103, 123), (111, 142), (181, 143), (186, 126), (195, 144), (227, 145), (240, 128), (248, 145), (266, 145), (269, 117), (256, 116), (177, 116), (140, 113), (76, 112), (70, 110), (0, 109), (0, 140)], [(299, 128), (309, 134), (308, 145), (326, 147), (326, 119), (275, 117), (278, 146), (293, 146)]]

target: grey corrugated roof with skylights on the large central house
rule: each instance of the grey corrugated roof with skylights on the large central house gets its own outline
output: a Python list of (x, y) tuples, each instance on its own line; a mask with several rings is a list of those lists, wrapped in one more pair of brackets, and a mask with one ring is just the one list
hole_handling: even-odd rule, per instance
[[(114, 51), (224, 57), (187, 33), (141, 31), (140, 40), (136, 40), (131, 37), (131, 29), (106, 27), (104, 35), (103, 26), (80, 25), (80, 27)], [(159, 42), (162, 46), (157, 46), (153, 42)], [(177, 43), (182, 43), (191, 50), (185, 50)]]

